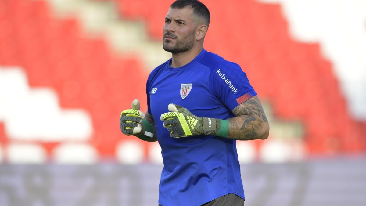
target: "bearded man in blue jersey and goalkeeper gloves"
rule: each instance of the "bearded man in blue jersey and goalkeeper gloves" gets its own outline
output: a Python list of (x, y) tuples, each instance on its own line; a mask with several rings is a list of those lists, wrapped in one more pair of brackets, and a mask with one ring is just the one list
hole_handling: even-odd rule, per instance
[(209, 21), (209, 10), (197, 0), (171, 5), (163, 48), (172, 58), (149, 75), (146, 114), (138, 100), (121, 114), (124, 134), (161, 146), (162, 206), (244, 205), (236, 140), (268, 137), (268, 121), (246, 74), (203, 49)]

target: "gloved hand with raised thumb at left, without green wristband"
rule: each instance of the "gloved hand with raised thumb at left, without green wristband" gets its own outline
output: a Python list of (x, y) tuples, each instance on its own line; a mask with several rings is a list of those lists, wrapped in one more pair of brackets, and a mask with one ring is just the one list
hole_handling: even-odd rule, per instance
[(140, 110), (140, 102), (135, 99), (131, 104), (131, 109), (124, 110), (121, 113), (119, 126), (125, 135), (141, 135), (145, 132), (145, 126), (142, 124), (145, 114)]

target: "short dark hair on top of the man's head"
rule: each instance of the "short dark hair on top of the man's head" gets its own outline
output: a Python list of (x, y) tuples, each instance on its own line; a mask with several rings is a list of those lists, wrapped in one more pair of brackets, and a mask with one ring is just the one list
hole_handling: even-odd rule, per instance
[(193, 9), (193, 14), (202, 17), (206, 20), (207, 26), (210, 24), (210, 11), (201, 1), (198, 0), (176, 0), (170, 5), (170, 8), (185, 8), (191, 7)]

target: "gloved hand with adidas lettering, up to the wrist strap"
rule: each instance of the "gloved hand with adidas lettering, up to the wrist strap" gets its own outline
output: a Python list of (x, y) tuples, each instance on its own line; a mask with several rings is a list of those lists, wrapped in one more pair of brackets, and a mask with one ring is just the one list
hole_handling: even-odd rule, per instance
[(160, 120), (168, 129), (171, 137), (179, 138), (191, 135), (203, 135), (203, 118), (176, 104), (169, 104), (171, 112), (161, 114)]

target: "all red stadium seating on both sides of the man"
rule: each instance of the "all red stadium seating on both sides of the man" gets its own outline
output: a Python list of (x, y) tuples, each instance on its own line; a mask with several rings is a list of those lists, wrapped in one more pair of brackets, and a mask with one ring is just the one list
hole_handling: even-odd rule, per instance
[[(332, 64), (322, 57), (319, 45), (292, 40), (279, 5), (254, 0), (220, 2), (205, 2), (212, 12), (205, 48), (242, 66), (260, 98), (270, 103), (274, 119), (303, 125), (303, 134), (298, 132), (291, 139), (304, 141), (309, 154), (365, 151), (365, 124), (350, 117)], [(150, 41), (161, 40), (171, 1), (115, 3), (120, 19), (146, 22)], [(50, 5), (41, 0), (0, 2), (0, 65), (22, 67), (31, 88), (54, 89), (62, 108), (86, 110), (94, 133), (83, 143), (96, 148), (101, 158), (117, 154), (123, 159), (116, 146), (125, 148), (126, 143), (143, 148), (137, 161), (144, 161), (149, 144), (123, 136), (116, 114), (134, 98), (146, 101), (145, 81), (153, 68), (147, 69), (150, 64), (135, 52), (116, 53), (102, 34), (89, 37), (80, 19), (56, 18)], [(236, 15), (239, 12), (243, 15)], [(238, 41), (240, 47), (234, 46)], [(126, 89), (131, 87), (133, 91)], [(146, 105), (142, 104), (142, 110)], [(9, 139), (18, 137), (2, 130), (4, 148)], [(36, 143), (51, 155), (62, 142)], [(259, 151), (262, 142), (253, 144)]]

